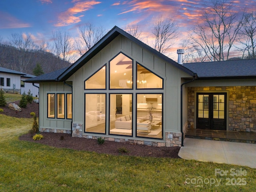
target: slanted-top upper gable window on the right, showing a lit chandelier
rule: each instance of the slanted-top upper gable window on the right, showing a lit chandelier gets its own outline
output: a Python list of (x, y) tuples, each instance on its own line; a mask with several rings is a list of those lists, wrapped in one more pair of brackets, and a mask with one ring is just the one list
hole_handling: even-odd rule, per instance
[(137, 63), (137, 89), (162, 89), (163, 79)]

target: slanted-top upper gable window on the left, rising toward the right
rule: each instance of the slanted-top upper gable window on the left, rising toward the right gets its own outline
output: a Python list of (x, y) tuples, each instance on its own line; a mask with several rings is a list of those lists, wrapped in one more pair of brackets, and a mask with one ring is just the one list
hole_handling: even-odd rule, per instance
[(106, 65), (84, 81), (85, 89), (106, 89)]

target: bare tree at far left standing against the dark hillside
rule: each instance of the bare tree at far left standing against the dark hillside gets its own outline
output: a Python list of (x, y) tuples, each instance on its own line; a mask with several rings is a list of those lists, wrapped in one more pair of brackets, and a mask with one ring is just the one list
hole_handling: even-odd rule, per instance
[(26, 34), (11, 34), (10, 45), (14, 46), (16, 49), (14, 51), (14, 60), (11, 64), (13, 70), (19, 70), (20, 72), (26, 72), (26, 66), (29, 64), (31, 59), (30, 52), (34, 50), (35, 44), (32, 41), (30, 35)]

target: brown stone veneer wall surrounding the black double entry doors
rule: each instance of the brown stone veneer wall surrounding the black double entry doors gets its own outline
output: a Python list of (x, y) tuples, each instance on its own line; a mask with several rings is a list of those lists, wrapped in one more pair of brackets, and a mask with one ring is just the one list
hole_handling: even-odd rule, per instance
[(188, 128), (194, 128), (195, 91), (227, 91), (227, 130), (256, 132), (255, 86), (188, 87)]

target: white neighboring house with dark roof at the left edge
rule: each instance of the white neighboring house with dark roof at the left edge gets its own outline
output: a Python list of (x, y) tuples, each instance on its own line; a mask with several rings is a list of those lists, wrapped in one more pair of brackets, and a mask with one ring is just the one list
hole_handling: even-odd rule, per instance
[[(0, 67), (0, 88), (3, 89), (4, 92), (19, 94), (22, 94), (24, 91), (27, 94), (30, 90), (35, 97), (38, 95), (39, 89), (33, 86), (32, 83), (23, 82), (24, 80), (32, 77), (36, 76)], [(39, 84), (35, 85), (39, 86)]]

